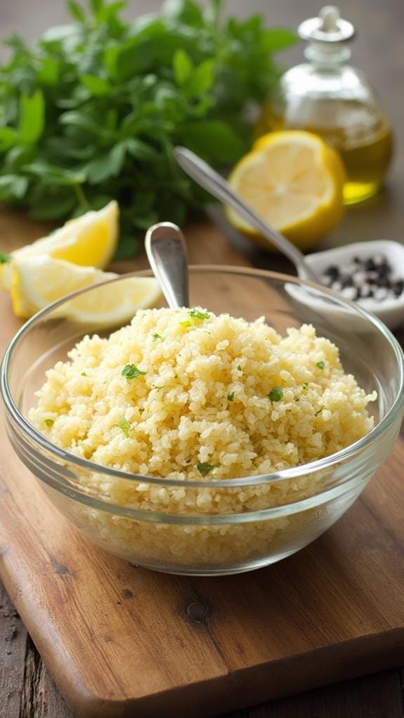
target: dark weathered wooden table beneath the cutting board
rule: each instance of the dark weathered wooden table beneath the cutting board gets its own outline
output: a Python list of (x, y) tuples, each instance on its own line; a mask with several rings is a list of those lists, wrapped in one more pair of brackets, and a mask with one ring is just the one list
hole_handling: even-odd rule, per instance
[[(135, 0), (132, 12), (151, 11), (159, 0)], [(404, 241), (404, 130), (403, 0), (340, 0), (339, 6), (359, 29), (354, 45), (354, 61), (367, 71), (377, 86), (387, 113), (392, 118), (397, 139), (395, 165), (385, 190), (366, 204), (349, 210), (341, 227), (327, 238), (324, 246), (347, 241), (390, 238)], [(296, 25), (318, 9), (311, 0), (232, 0), (231, 11), (262, 11), (272, 24)], [(18, 30), (33, 37), (45, 27), (65, 19), (62, 0), (0, 1), (1, 34)], [(301, 48), (286, 57), (299, 60)], [(4, 230), (6, 232), (6, 228)], [(0, 238), (1, 244), (6, 241)], [(239, 246), (255, 266), (286, 269), (279, 258), (264, 256)], [(220, 261), (220, 259), (218, 259)], [(0, 584), (0, 718), (67, 718), (69, 709), (58, 694), (32, 640), (10, 604)], [(403, 673), (386, 671), (306, 694), (275, 701), (234, 713), (227, 718), (404, 718)], [(160, 718), (160, 717), (156, 717)], [(161, 717), (163, 718), (163, 717)]]

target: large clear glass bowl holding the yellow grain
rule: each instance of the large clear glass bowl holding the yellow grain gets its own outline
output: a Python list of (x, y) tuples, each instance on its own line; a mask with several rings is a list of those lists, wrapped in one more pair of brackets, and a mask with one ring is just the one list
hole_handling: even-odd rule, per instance
[[(150, 272), (137, 273), (150, 276)], [(128, 276), (113, 282), (126, 282)], [(98, 286), (85, 289), (97, 303)], [(82, 294), (82, 292), (78, 293)], [(19, 458), (39, 479), (52, 503), (95, 544), (133, 564), (177, 574), (231, 574), (257, 569), (314, 541), (352, 505), (386, 459), (403, 415), (403, 353), (393, 335), (372, 314), (337, 294), (290, 276), (257, 269), (194, 266), (192, 306), (286, 327), (311, 323), (340, 350), (344, 370), (365, 391), (377, 391), (375, 427), (342, 451), (271, 475), (230, 480), (184, 481), (133, 475), (97, 465), (51, 444), (27, 419), (45, 371), (84, 335), (108, 336), (126, 324), (79, 322), (76, 294), (52, 304), (27, 322), (9, 345), (1, 368), (6, 425)], [(161, 299), (161, 306), (165, 306)], [(271, 487), (271, 492), (268, 491)], [(189, 502), (159, 511), (140, 510), (136, 490), (177, 491)], [(273, 491), (278, 495), (273, 505)], [(215, 495), (217, 513), (204, 513), (195, 500)], [(253, 495), (248, 510), (235, 510), (241, 495)], [(282, 498), (283, 497), (283, 498)], [(188, 510), (191, 505), (192, 510)], [(245, 506), (245, 502), (244, 502)], [(180, 508), (178, 508), (180, 507)], [(229, 507), (229, 508), (227, 508)]]

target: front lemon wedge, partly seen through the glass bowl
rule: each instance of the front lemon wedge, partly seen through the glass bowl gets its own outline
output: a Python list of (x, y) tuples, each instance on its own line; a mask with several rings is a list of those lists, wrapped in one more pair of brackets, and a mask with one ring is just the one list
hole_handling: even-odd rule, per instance
[[(102, 284), (118, 274), (77, 266), (46, 254), (14, 258), (11, 299), (17, 317), (27, 319), (65, 294)], [(79, 322), (109, 324), (125, 321), (137, 309), (153, 307), (161, 296), (154, 277), (128, 277), (80, 294), (61, 307), (62, 314)]]

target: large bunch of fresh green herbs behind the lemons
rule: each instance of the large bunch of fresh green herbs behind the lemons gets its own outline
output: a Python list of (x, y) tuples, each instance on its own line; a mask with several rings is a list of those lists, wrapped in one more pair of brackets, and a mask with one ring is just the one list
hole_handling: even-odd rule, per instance
[(34, 47), (14, 35), (0, 67), (0, 200), (60, 221), (116, 199), (121, 258), (149, 225), (182, 225), (210, 201), (174, 146), (236, 162), (250, 146), (246, 110), (268, 97), (274, 54), (296, 42), (259, 14), (228, 17), (222, 0), (168, 0), (131, 20), (126, 4), (67, 0), (71, 24)]

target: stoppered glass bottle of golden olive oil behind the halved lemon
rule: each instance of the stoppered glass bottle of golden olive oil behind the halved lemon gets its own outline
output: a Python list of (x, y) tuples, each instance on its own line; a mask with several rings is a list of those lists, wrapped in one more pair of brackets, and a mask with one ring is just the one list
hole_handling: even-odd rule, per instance
[(341, 154), (347, 172), (344, 203), (372, 197), (382, 185), (393, 155), (393, 135), (385, 112), (365, 75), (347, 64), (351, 23), (334, 6), (301, 23), (309, 40), (309, 62), (288, 70), (263, 108), (256, 134), (284, 129), (314, 132)]

